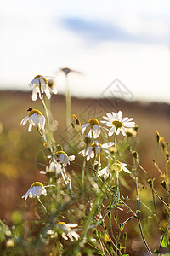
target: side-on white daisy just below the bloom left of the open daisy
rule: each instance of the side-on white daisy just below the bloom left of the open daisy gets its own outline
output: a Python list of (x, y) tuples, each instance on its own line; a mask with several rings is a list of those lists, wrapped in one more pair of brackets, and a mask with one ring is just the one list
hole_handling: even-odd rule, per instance
[(98, 141), (94, 141), (94, 143), (88, 147), (87, 149), (83, 149), (82, 151), (79, 152), (79, 154), (82, 154), (82, 156), (87, 156), (87, 161), (90, 158), (94, 158), (95, 154), (99, 154), (101, 150), (104, 150), (106, 153), (109, 154), (109, 149), (112, 147), (114, 143), (104, 143), (100, 144)]

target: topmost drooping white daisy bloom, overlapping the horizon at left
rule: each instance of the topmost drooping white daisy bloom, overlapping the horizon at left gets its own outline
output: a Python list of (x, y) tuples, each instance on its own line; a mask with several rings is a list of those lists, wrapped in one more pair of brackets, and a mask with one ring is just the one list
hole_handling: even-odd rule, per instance
[(37, 100), (37, 95), (42, 99), (42, 94), (45, 93), (48, 99), (50, 99), (51, 94), (57, 94), (57, 90), (54, 86), (54, 79), (52, 77), (43, 77), (37, 75), (30, 84), (28, 84), (30, 90), (32, 90), (32, 101)]

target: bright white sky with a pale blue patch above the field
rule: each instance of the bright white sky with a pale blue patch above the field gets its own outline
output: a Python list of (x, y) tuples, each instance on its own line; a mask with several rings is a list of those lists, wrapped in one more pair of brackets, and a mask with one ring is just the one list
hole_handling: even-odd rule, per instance
[(170, 102), (169, 0), (2, 0), (0, 38), (1, 90), (71, 67), (84, 73), (70, 77), (74, 96), (117, 78), (133, 100)]

